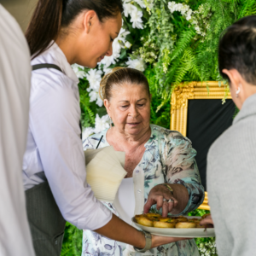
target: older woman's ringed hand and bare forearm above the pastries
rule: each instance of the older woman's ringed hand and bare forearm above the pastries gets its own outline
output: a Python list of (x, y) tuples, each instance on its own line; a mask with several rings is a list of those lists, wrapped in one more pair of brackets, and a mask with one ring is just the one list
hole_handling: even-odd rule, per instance
[[(149, 212), (149, 209), (155, 204), (157, 210), (162, 208), (163, 217), (167, 217), (168, 212), (172, 212), (172, 214), (183, 212), (189, 201), (188, 190), (181, 184), (169, 185), (173, 189), (173, 194), (163, 184), (156, 185), (150, 190), (148, 201), (144, 206), (144, 213)], [(172, 201), (168, 202), (170, 199)]]

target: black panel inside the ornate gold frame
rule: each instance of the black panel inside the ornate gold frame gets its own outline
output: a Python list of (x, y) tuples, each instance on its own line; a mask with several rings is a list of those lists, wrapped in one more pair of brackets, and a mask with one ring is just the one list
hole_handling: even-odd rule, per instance
[(207, 153), (212, 143), (232, 125), (235, 104), (232, 100), (190, 100), (187, 137), (197, 151), (195, 160), (201, 183), (207, 190)]

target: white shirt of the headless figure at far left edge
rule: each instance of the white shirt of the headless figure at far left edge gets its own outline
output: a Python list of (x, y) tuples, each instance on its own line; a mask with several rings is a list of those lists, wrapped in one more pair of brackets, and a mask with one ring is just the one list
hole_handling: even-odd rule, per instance
[(0, 4), (0, 255), (33, 256), (22, 184), (30, 95), (30, 53)]

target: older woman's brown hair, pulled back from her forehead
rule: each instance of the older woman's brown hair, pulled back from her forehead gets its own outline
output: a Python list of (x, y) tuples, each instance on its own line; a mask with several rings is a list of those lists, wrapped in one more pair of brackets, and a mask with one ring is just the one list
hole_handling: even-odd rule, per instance
[(123, 86), (124, 84), (137, 84), (143, 86), (148, 96), (150, 97), (148, 79), (145, 75), (130, 67), (114, 67), (111, 73), (106, 74), (101, 82), (99, 94), (102, 100), (107, 99), (110, 101), (113, 92), (113, 86)]

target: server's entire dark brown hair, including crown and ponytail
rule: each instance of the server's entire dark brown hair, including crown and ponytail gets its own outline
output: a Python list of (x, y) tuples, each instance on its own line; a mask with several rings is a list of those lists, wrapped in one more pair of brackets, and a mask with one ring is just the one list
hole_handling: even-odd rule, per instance
[(123, 12), (122, 0), (38, 0), (26, 30), (26, 40), (33, 58), (55, 40), (61, 27), (67, 27), (84, 10), (94, 10), (99, 20)]

